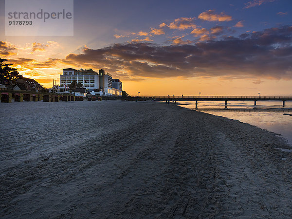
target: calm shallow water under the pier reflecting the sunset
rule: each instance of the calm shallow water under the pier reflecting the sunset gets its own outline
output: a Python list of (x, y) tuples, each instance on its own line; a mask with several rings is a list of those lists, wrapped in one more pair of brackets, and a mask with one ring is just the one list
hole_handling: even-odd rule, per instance
[[(177, 101), (182, 107), (195, 109), (195, 101)], [(259, 128), (281, 134), (288, 144), (292, 146), (292, 101), (285, 102), (285, 111), (281, 101), (228, 101), (224, 110), (224, 101), (198, 101), (198, 110), (219, 115), (230, 119), (237, 119), (240, 122), (249, 123)]]

